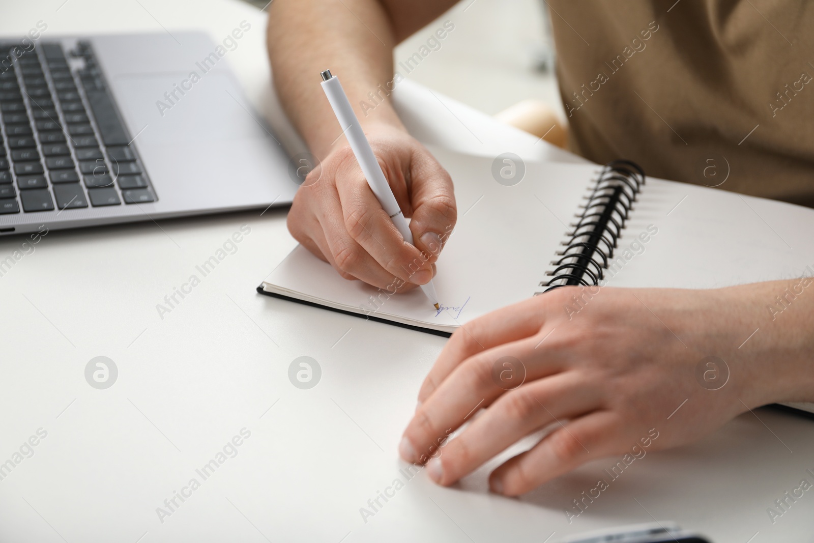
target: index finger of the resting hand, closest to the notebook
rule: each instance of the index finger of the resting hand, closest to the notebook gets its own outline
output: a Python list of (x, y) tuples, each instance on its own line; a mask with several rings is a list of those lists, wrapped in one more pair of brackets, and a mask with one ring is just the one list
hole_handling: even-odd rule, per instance
[(444, 350), (418, 391), (418, 401), (427, 401), (466, 358), (540, 332), (545, 324), (544, 307), (538, 297), (534, 297), (466, 322), (444, 345)]

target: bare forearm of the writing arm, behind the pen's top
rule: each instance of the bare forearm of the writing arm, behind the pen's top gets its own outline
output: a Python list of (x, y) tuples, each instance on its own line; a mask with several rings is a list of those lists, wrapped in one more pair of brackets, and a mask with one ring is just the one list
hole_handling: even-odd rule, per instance
[(362, 125), (401, 127), (384, 100), (361, 111), (368, 93), (392, 80), (396, 37), (378, 0), (277, 0), (269, 9), (269, 59), (274, 86), (288, 116), (311, 150), (323, 158), (341, 134), (319, 85), (330, 68), (342, 85)]

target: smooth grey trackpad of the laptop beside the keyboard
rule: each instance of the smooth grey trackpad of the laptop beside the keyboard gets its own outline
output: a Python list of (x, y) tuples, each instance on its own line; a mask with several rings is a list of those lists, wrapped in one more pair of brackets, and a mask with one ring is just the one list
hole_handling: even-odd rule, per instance
[(216, 142), (268, 138), (226, 72), (133, 74), (112, 81), (122, 115), (138, 142)]

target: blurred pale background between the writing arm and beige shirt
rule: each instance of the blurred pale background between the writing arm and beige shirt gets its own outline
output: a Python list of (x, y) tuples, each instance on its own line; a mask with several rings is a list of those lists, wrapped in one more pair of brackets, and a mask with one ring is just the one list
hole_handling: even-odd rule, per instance
[[(269, 3), (247, 2), (259, 8)], [(408, 79), (489, 115), (538, 99), (564, 118), (545, 0), (462, 0), (400, 44), (396, 64), (416, 53), (445, 20), (455, 29)]]

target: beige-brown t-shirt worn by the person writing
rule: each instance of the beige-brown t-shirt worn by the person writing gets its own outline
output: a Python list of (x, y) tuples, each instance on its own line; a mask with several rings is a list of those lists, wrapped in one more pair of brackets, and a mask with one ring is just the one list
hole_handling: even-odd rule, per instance
[(814, 207), (814, 2), (548, 3), (575, 152)]

